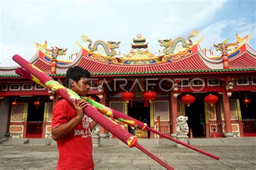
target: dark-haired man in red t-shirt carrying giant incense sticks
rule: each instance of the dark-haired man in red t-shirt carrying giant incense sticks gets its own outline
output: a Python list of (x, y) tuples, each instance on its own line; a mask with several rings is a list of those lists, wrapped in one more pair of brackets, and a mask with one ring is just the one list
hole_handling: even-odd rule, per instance
[[(90, 89), (90, 73), (78, 66), (66, 72), (66, 84), (79, 96), (86, 96)], [(93, 169), (91, 130), (97, 125), (89, 124), (83, 109), (85, 101), (69, 104), (58, 101), (53, 108), (52, 138), (57, 141), (59, 160), (57, 169)]]

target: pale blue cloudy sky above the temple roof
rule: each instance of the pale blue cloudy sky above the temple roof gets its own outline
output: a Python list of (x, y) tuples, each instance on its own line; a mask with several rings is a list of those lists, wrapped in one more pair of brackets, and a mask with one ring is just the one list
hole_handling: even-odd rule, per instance
[(37, 52), (34, 42), (68, 48), (66, 57), (79, 52), (76, 40), (86, 34), (93, 41), (121, 41), (117, 51), (129, 53), (132, 38), (142, 34), (151, 52), (163, 49), (159, 39), (187, 38), (199, 30), (202, 48), (212, 48), (226, 38), (235, 42), (252, 34), (255, 43), (256, 1), (1, 1), (0, 66), (17, 64), (14, 54), (26, 60)]

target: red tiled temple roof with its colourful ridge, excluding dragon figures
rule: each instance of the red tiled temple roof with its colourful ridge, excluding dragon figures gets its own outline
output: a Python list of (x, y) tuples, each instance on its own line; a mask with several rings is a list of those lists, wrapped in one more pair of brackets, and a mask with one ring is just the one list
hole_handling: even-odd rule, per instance
[[(112, 41), (111, 41), (112, 42)], [(38, 47), (37, 53), (29, 61), (51, 76), (64, 76), (72, 66), (80, 66), (91, 72), (92, 76), (138, 76), (138, 75), (173, 75), (173, 74), (208, 74), (208, 73), (256, 73), (256, 52), (246, 44), (237, 46), (228, 54), (229, 69), (223, 69), (221, 58), (208, 58), (198, 43), (184, 51), (172, 54), (156, 55), (148, 49), (132, 49), (123, 57), (104, 56), (81, 47), (73, 62), (57, 63), (57, 73), (51, 72), (51, 59)], [(16, 77), (16, 67), (0, 67), (0, 77)], [(255, 75), (256, 76), (256, 75)]]

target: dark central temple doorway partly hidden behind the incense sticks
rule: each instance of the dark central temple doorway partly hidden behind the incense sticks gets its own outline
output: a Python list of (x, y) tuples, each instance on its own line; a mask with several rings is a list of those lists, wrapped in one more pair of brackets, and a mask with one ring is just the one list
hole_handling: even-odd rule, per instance
[[(137, 119), (140, 122), (146, 123), (150, 127), (150, 107), (144, 107), (144, 101), (133, 101), (133, 107), (131, 108), (130, 103), (128, 104), (128, 116)], [(131, 128), (129, 127), (131, 133)], [(142, 131), (139, 129), (135, 130), (135, 135), (142, 138), (150, 138), (149, 131)]]

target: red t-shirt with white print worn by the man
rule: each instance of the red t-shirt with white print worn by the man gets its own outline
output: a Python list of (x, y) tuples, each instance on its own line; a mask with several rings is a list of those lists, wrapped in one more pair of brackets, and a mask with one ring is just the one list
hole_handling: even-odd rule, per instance
[[(76, 117), (76, 110), (66, 100), (53, 108), (52, 128)], [(89, 117), (84, 114), (80, 124), (71, 133), (57, 141), (59, 160), (57, 169), (93, 169), (92, 139)]]

